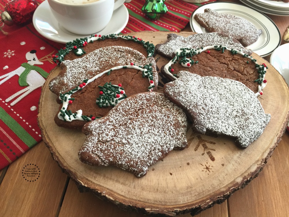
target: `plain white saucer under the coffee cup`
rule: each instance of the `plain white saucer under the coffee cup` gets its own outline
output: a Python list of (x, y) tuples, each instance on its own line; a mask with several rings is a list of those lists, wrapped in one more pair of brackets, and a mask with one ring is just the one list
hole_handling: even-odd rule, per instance
[[(108, 25), (100, 32), (97, 32), (97, 34), (109, 35), (120, 33), (127, 25), (128, 16), (127, 8), (125, 5), (121, 5), (113, 12), (112, 18)], [(90, 35), (74, 34), (60, 26), (52, 15), (47, 0), (43, 1), (38, 8), (36, 8), (33, 15), (33, 25), (37, 32), (39, 32), (42, 36), (59, 43), (65, 44), (68, 41), (75, 40), (76, 38), (90, 37)]]

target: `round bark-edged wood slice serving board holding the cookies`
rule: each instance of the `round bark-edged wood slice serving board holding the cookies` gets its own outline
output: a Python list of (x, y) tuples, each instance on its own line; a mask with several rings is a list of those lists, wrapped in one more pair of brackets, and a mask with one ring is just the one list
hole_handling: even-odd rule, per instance
[[(167, 34), (134, 33), (155, 45), (165, 42)], [(192, 33), (179, 34), (188, 36)], [(215, 203), (222, 203), (254, 179), (272, 155), (288, 123), (289, 91), (284, 78), (266, 60), (256, 54), (252, 56), (269, 68), (267, 86), (258, 99), (265, 113), (271, 114), (271, 121), (247, 149), (238, 148), (234, 140), (227, 137), (200, 135), (189, 126), (187, 139), (190, 146), (182, 151), (173, 150), (162, 161), (149, 167), (142, 178), (113, 166), (86, 165), (77, 156), (84, 134), (60, 128), (54, 123), (59, 105), (48, 84), (56, 73), (47, 78), (39, 102), (38, 121), (43, 140), (53, 158), (81, 191), (90, 190), (121, 208), (144, 214), (197, 214)], [(169, 61), (160, 55), (155, 59), (159, 69)]]

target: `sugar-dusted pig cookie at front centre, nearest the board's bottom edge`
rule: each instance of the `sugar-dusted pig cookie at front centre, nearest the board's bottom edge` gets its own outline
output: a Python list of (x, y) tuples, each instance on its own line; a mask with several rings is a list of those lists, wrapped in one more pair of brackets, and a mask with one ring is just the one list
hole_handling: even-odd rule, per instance
[(186, 148), (186, 128), (185, 113), (162, 93), (139, 93), (84, 126), (78, 156), (83, 163), (114, 165), (141, 177), (171, 150)]

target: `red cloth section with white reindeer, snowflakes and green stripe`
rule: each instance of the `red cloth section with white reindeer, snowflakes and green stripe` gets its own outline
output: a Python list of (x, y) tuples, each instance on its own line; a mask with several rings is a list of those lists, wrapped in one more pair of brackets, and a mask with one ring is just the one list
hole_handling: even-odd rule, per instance
[(41, 87), (62, 44), (42, 37), (32, 24), (1, 35), (0, 170), (41, 141), (37, 124)]

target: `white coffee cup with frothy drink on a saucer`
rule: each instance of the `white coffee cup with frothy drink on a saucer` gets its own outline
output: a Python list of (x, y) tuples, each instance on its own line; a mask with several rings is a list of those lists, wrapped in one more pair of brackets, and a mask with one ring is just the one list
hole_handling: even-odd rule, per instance
[(53, 16), (69, 32), (90, 35), (108, 25), (125, 0), (48, 0)]

